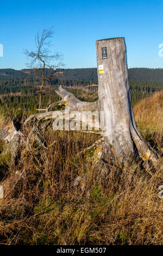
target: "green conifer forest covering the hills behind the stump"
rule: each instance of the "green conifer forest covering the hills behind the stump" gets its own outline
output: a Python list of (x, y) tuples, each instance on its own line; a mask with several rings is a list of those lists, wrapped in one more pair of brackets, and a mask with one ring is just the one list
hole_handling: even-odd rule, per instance
[[(133, 105), (163, 89), (163, 69), (132, 68), (128, 72)], [(46, 73), (49, 75), (49, 70)], [(43, 107), (58, 100), (54, 89), (60, 84), (76, 95), (79, 94), (77, 88), (82, 89), (82, 94), (89, 92), (86, 94), (87, 101), (97, 100), (97, 93), (94, 94), (98, 87), (86, 87), (98, 83), (96, 68), (57, 69), (55, 75), (43, 90)], [(22, 117), (23, 111), (35, 113), (39, 107), (40, 83), (40, 77), (32, 69), (0, 69), (0, 112), (8, 116), (16, 115), (17, 118)], [(80, 98), (80, 95), (77, 96)]]

